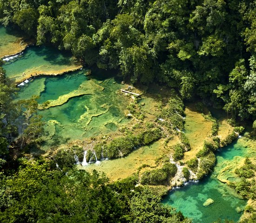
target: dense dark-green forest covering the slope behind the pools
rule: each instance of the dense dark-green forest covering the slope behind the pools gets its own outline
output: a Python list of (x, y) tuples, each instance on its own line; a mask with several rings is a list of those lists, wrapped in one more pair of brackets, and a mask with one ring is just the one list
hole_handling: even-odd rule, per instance
[[(256, 117), (254, 0), (0, 0), (0, 21), (132, 82)], [(210, 99), (210, 101), (209, 101)]]

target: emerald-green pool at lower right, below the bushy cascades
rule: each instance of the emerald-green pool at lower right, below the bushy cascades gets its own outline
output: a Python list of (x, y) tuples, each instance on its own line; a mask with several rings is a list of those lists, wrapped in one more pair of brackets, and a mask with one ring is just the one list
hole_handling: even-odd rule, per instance
[[(237, 213), (236, 208), (243, 209), (246, 200), (240, 199), (233, 189), (221, 183), (217, 175), (226, 165), (234, 162), (234, 159), (246, 155), (248, 149), (244, 146), (244, 139), (238, 139), (216, 153), (216, 167), (210, 176), (197, 184), (170, 191), (162, 202), (182, 211), (185, 216), (192, 218), (194, 223), (212, 223), (218, 219), (237, 222), (242, 213)], [(203, 203), (208, 198), (213, 199), (214, 203), (204, 207)]]

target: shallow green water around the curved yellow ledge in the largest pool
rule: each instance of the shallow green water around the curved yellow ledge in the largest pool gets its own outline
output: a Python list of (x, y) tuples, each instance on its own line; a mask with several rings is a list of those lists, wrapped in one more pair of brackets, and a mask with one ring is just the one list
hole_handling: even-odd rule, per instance
[(128, 121), (123, 113), (127, 106), (125, 96), (116, 93), (122, 85), (113, 78), (104, 79), (102, 76), (88, 79), (85, 73), (83, 69), (59, 76), (41, 76), (20, 86), (17, 99), (37, 95), (40, 96), (40, 104), (73, 92), (85, 82), (93, 81), (97, 86), (104, 87), (103, 91), (70, 98), (60, 106), (38, 111), (46, 121), (43, 149), (107, 134), (118, 130), (120, 125)]

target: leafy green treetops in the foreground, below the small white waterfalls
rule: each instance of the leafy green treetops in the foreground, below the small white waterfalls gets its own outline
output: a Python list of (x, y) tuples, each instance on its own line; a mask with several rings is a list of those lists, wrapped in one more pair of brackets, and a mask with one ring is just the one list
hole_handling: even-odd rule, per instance
[(109, 184), (96, 171), (54, 166), (20, 158), (18, 169), (1, 173), (0, 222), (191, 222), (147, 187), (135, 187), (135, 177)]

